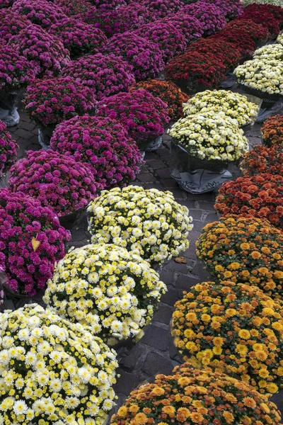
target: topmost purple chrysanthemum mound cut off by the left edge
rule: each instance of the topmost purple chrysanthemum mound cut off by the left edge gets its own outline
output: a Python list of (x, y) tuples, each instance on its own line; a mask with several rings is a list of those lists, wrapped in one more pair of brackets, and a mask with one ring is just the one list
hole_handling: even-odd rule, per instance
[(26, 16), (13, 11), (12, 8), (0, 9), (0, 37), (3, 41), (8, 42), (12, 35), (17, 35), (30, 24)]

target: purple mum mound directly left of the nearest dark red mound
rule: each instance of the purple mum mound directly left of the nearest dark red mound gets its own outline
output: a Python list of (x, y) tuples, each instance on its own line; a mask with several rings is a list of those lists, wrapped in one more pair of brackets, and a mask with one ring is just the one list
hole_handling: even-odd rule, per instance
[(158, 45), (134, 33), (113, 35), (105, 52), (122, 56), (134, 67), (134, 75), (139, 80), (158, 77), (165, 67)]

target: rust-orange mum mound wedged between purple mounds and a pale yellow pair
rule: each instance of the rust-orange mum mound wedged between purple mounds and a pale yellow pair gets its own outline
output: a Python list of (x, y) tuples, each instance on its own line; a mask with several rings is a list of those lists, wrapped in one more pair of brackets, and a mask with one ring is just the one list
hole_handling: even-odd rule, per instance
[(167, 104), (167, 112), (171, 120), (183, 117), (183, 103), (188, 101), (189, 96), (183, 93), (178, 86), (161, 79), (149, 79), (140, 81), (132, 86), (130, 91), (144, 89), (154, 96), (161, 98)]

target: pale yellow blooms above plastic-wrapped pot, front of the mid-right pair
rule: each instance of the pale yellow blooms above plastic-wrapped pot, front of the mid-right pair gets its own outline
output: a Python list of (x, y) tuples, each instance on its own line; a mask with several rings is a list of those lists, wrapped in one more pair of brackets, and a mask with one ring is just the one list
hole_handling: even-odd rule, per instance
[(235, 161), (248, 152), (238, 121), (224, 113), (205, 112), (181, 118), (168, 131), (178, 145), (199, 159)]

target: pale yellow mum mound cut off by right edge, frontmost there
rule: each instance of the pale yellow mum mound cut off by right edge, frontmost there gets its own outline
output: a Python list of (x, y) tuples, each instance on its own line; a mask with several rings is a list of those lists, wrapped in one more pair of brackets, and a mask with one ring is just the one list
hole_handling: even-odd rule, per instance
[(258, 59), (248, 60), (236, 67), (238, 82), (268, 94), (283, 94), (283, 61)]

